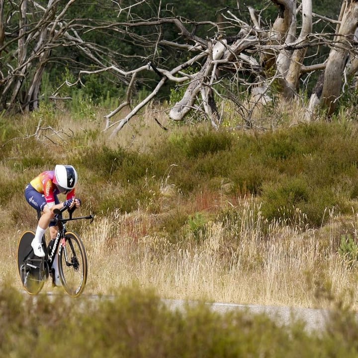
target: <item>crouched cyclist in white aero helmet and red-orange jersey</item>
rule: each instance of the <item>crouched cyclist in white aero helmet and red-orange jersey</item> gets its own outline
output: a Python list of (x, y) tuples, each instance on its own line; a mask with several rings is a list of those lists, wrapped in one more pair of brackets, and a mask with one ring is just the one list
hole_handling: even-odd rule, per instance
[[(73, 166), (56, 165), (55, 170), (41, 173), (26, 185), (25, 197), (27, 202), (36, 210), (43, 212), (31, 243), (36, 256), (45, 256), (41, 239), (47, 227), (50, 229), (51, 237), (49, 248), (52, 248), (56, 239), (58, 228), (55, 223), (50, 222), (55, 216), (53, 210), (61, 209), (65, 205), (69, 207), (69, 210), (75, 210), (81, 206), (81, 200), (75, 197), (77, 179), (77, 172)], [(66, 194), (64, 202), (60, 202), (57, 197), (59, 193)]]

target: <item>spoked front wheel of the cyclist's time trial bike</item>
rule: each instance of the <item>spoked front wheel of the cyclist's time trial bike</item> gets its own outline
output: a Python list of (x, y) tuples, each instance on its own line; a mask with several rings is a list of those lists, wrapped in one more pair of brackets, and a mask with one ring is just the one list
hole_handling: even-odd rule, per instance
[[(87, 255), (80, 237), (71, 231), (65, 233), (65, 243), (59, 247), (58, 268), (62, 285), (71, 297), (78, 297), (87, 282)], [(66, 254), (69, 265), (66, 263)]]

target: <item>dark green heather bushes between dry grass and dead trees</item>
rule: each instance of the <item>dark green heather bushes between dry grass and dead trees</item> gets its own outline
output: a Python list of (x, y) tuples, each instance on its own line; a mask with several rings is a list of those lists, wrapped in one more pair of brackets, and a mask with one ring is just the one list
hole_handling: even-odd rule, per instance
[[(182, 194), (204, 183), (219, 191), (222, 182), (229, 182), (234, 195), (253, 194), (262, 201), (268, 220), (294, 223), (302, 213), (310, 226), (320, 226), (329, 217), (327, 210), (349, 213), (358, 192), (356, 136), (337, 124), (313, 123), (236, 138), (224, 131), (176, 131), (152, 147), (150, 156), (103, 147), (86, 149), (81, 158), (81, 166), (96, 168), (96, 182), (121, 185), (101, 208), (127, 212), (139, 202), (158, 211), (154, 201), (161, 196), (159, 180), (173, 164), (171, 183)], [(129, 185), (130, 190), (124, 189)]]

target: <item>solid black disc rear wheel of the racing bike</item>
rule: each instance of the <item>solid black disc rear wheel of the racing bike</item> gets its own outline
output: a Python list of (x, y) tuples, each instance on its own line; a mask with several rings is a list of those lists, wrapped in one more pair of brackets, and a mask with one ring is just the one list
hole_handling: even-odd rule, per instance
[(24, 289), (31, 295), (41, 291), (46, 277), (44, 260), (35, 256), (31, 247), (34, 237), (33, 231), (25, 231), (17, 244), (17, 268), (20, 280)]

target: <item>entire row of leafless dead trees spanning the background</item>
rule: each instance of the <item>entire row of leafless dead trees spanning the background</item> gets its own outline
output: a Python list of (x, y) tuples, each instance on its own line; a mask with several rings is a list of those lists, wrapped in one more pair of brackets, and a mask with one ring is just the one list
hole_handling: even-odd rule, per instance
[[(217, 22), (194, 22), (180, 16), (167, 16), (171, 12), (161, 8), (161, 1), (156, 16), (143, 19), (135, 15), (135, 9), (147, 0), (128, 6), (124, 5), (125, 1), (111, 1), (118, 15), (128, 14), (126, 21), (96, 20), (87, 24), (83, 19), (67, 17), (76, 1), (50, 0), (46, 6), (41, 6), (36, 1), (23, 0), (17, 4), (0, 0), (1, 109), (11, 109), (17, 104), (21, 110), (38, 106), (43, 73), (53, 60), (52, 50), (59, 46), (76, 48), (89, 62), (89, 66), (79, 69), (77, 84), (86, 75), (110, 72), (118, 83), (128, 86), (123, 102), (105, 116), (104, 130), (112, 136), (168, 83), (185, 86), (183, 96), (168, 111), (171, 119), (180, 121), (196, 111), (217, 128), (222, 123), (216, 103), (220, 96), (226, 95), (226, 99), (244, 107), (239, 98), (245, 95), (251, 108), (269, 101), (273, 95), (283, 100), (299, 98), (299, 93), (305, 90), (302, 78), (316, 71), (324, 73), (307, 107), (308, 118), (321, 107), (328, 108), (331, 114), (342, 94), (343, 84), (348, 83), (348, 77), (358, 69), (354, 42), (357, 0), (343, 1), (337, 20), (313, 13), (312, 0), (271, 0), (271, 6), (277, 9), (272, 24), (263, 20), (260, 9), (250, 6), (246, 20), (240, 18), (239, 11), (223, 9)], [(19, 14), (16, 25), (11, 16), (14, 13)], [(30, 18), (34, 20), (31, 22)], [(334, 25), (336, 30), (319, 33), (314, 28), (317, 21), (328, 23), (331, 28)], [(176, 29), (178, 37), (175, 40), (166, 37), (165, 26)], [(198, 29), (203, 26), (210, 27), (206, 36), (198, 35)], [(147, 29), (148, 33), (148, 28), (153, 31), (151, 36), (142, 36), (141, 29)], [(104, 49), (86, 42), (84, 39), (89, 31), (104, 34), (112, 31), (118, 37), (132, 37), (138, 46), (151, 48), (152, 56), (136, 68), (124, 66), (118, 57), (115, 59), (116, 49)], [(308, 48), (329, 51), (321, 63), (307, 63)], [(170, 68), (166, 65), (166, 59), (160, 55), (162, 49), (180, 53), (176, 65)], [(191, 68), (189, 72), (186, 71), (188, 67)], [(146, 98), (132, 107), (133, 90), (148, 72), (156, 75), (156, 85)], [(276, 86), (274, 93), (273, 84), (276, 83), (280, 86)], [(225, 87), (226, 94), (218, 91), (220, 87)], [(235, 92), (234, 89), (239, 88), (241, 92)], [(130, 107), (130, 112), (121, 117), (125, 106)], [(246, 120), (251, 120), (250, 111), (248, 108)], [(114, 120), (117, 116), (119, 119)]]

